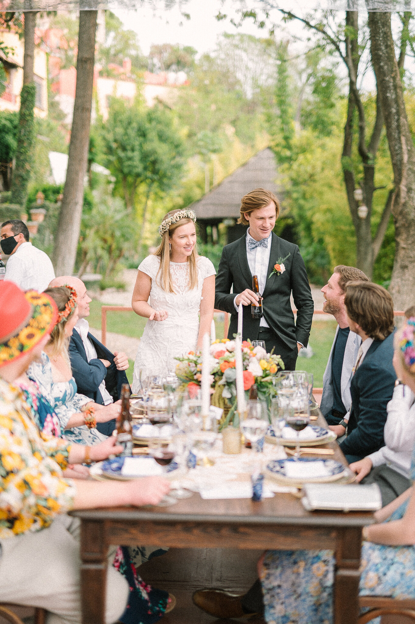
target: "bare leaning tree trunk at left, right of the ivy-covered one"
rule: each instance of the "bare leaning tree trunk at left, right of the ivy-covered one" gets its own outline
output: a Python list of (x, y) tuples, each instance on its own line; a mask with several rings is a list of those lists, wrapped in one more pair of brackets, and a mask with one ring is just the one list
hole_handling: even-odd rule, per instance
[(88, 165), (96, 29), (97, 11), (80, 11), (74, 120), (70, 135), (64, 198), (60, 207), (54, 247), (57, 276), (72, 275), (77, 255), (82, 218), (83, 180)]

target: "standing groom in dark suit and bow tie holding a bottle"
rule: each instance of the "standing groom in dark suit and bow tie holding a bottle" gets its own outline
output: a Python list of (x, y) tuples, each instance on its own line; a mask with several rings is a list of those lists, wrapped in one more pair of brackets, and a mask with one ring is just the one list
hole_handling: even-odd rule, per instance
[[(294, 370), (298, 351), (307, 347), (313, 320), (313, 298), (298, 246), (279, 238), (272, 230), (280, 204), (274, 193), (255, 188), (241, 200), (238, 223), (249, 225), (247, 233), (226, 245), (216, 276), (215, 308), (231, 313), (228, 338), (237, 332), (237, 310), (244, 306), (242, 339), (264, 340), (268, 352), (280, 354), (286, 370)], [(263, 297), (262, 318), (252, 318), (252, 276), (258, 276)], [(233, 286), (233, 292), (231, 288)], [(297, 323), (290, 295), (297, 308)]]

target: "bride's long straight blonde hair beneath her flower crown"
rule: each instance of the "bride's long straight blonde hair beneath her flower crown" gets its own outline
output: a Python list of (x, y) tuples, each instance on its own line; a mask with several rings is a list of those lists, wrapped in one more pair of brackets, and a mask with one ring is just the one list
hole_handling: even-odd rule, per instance
[[(181, 212), (180, 210), (171, 210), (168, 212), (165, 217), (163, 217), (163, 221), (168, 219), (169, 217), (173, 217), (176, 212)], [(161, 243), (155, 251), (155, 256), (160, 258), (160, 268), (157, 271), (156, 275), (156, 283), (166, 291), (166, 293), (174, 293), (173, 288), (173, 280), (171, 279), (170, 273), (170, 246), (169, 246), (169, 236), (171, 236), (174, 230), (181, 227), (181, 225), (187, 225), (188, 223), (194, 223), (193, 219), (189, 217), (184, 217), (180, 219), (176, 223), (172, 223), (166, 232), (163, 232), (161, 235)], [(196, 226), (195, 226), (196, 227)], [(198, 251), (196, 250), (196, 245), (194, 245), (193, 251), (191, 255), (188, 257), (188, 273), (189, 273), (189, 290), (193, 290), (193, 288), (198, 287)]]

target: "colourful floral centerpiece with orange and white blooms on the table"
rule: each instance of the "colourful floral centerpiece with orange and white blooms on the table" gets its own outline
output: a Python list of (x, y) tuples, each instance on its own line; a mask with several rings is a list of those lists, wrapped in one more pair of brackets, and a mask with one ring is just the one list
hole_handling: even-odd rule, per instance
[[(224, 338), (211, 344), (211, 403), (224, 410), (221, 428), (232, 422), (236, 410), (236, 364), (235, 341)], [(190, 351), (183, 358), (176, 358), (176, 375), (189, 389), (201, 385), (202, 356)], [(244, 366), (244, 390), (246, 399), (249, 390), (257, 384), (258, 397), (270, 406), (272, 378), (284, 362), (279, 355), (267, 353), (262, 347), (253, 347), (250, 341), (242, 342), (242, 363)]]

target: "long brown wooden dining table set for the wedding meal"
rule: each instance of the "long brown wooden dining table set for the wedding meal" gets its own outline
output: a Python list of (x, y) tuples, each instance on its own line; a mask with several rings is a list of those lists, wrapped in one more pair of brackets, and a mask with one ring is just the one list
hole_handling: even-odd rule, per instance
[[(327, 427), (321, 412), (314, 413), (318, 414), (315, 424)], [(323, 444), (322, 448), (333, 449), (331, 457), (347, 466), (336, 441)], [(195, 493), (169, 507), (83, 509), (70, 515), (81, 522), (83, 624), (105, 624), (107, 552), (110, 545), (119, 544), (333, 550), (333, 623), (355, 624), (358, 620), (361, 530), (374, 522), (369, 512), (308, 512), (293, 494), (275, 494), (273, 498), (252, 502), (203, 500)]]

